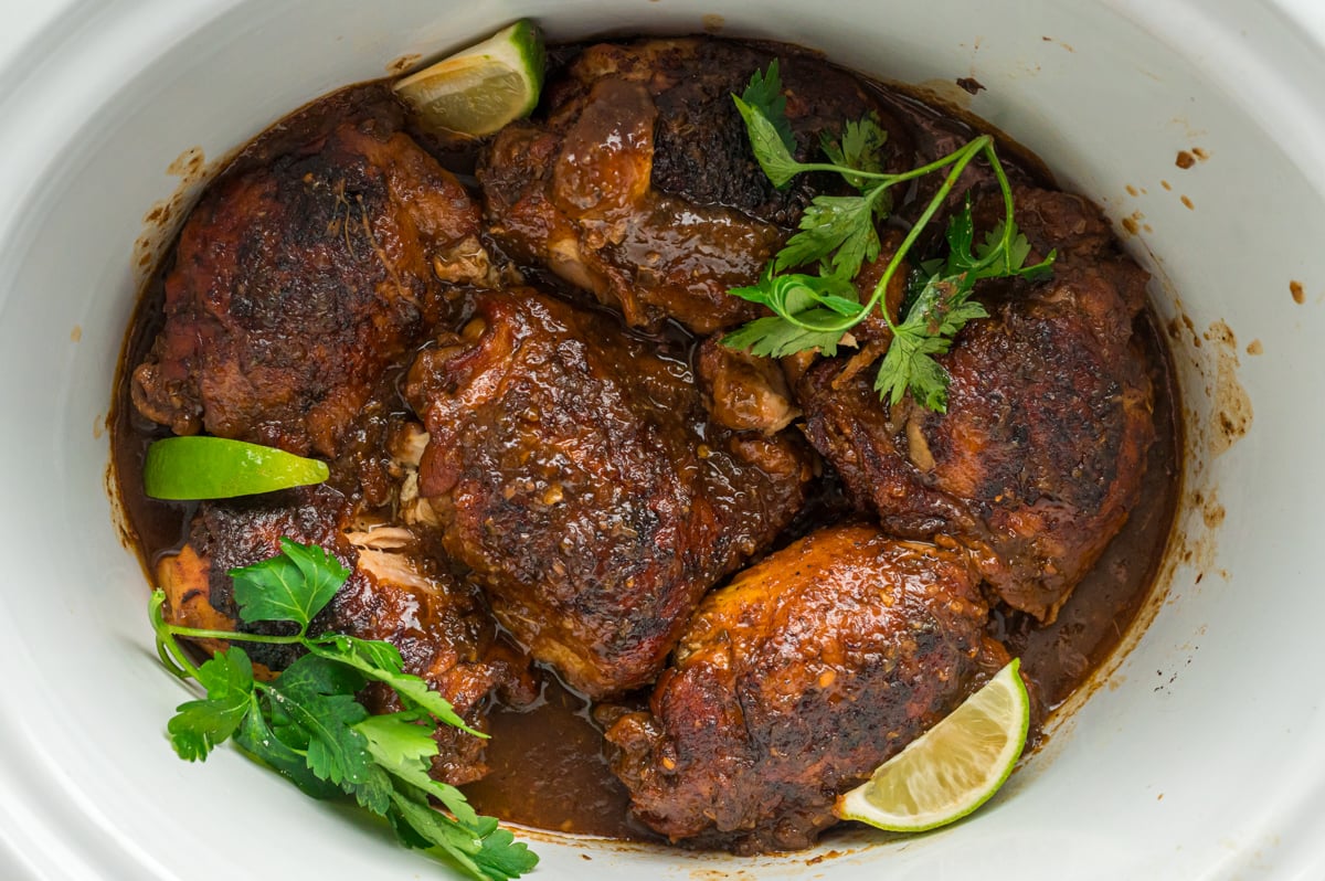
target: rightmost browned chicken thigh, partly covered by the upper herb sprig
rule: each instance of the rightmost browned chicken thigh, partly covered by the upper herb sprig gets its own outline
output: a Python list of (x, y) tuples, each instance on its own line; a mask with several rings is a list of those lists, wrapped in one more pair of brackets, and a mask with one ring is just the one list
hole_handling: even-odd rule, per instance
[[(998, 211), (982, 205), (984, 228)], [(1133, 339), (1149, 276), (1077, 196), (1018, 188), (1016, 221), (1030, 261), (1057, 248), (1053, 276), (978, 289), (990, 318), (939, 358), (946, 413), (909, 397), (890, 408), (873, 371), (843, 360), (814, 367), (798, 395), (811, 442), (888, 533), (957, 538), (1008, 605), (1051, 623), (1137, 502), (1154, 439)]]

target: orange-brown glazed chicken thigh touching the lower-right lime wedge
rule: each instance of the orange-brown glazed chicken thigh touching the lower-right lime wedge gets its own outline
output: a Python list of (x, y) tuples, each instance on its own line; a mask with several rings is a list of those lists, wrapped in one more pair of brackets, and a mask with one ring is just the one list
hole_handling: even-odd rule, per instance
[(810, 847), (835, 798), (1006, 662), (963, 551), (833, 526), (705, 597), (648, 711), (600, 710), (635, 813), (673, 841)]

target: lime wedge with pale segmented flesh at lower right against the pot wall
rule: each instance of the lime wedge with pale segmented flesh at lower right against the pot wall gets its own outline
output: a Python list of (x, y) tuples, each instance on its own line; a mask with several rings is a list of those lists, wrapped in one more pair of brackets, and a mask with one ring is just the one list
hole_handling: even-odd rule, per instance
[(844, 820), (890, 832), (924, 832), (959, 820), (998, 792), (1031, 723), (1020, 661), (999, 670), (942, 722), (837, 799)]

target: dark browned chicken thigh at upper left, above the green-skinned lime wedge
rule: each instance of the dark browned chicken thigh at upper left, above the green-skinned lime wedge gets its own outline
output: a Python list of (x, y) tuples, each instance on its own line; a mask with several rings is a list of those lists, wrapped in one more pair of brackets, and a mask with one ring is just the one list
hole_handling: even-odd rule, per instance
[(478, 207), (382, 114), (212, 187), (180, 233), (140, 413), (333, 457), (386, 364), (484, 281)]

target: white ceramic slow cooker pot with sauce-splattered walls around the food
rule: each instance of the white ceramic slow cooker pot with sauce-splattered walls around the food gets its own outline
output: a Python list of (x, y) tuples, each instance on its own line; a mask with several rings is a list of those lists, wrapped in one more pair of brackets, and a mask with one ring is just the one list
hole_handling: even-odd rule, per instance
[(0, 3), (0, 25), (15, 20), (0, 42), (0, 877), (450, 877), (232, 750), (175, 756), (164, 722), (188, 694), (151, 650), (144, 576), (106, 490), (106, 416), (139, 258), (163, 240), (146, 217), (172, 199), (178, 217), (196, 195), (189, 156), (209, 167), (319, 94), (522, 15), (554, 38), (708, 28), (904, 82), (975, 77), (986, 90), (970, 109), (1102, 204), (1153, 272), (1187, 431), (1153, 620), (977, 816), (753, 860), (537, 835), (534, 877), (1325, 877), (1325, 49), (1309, 36), (1325, 33), (1325, 12), (1305, 0), (19, 5)]

